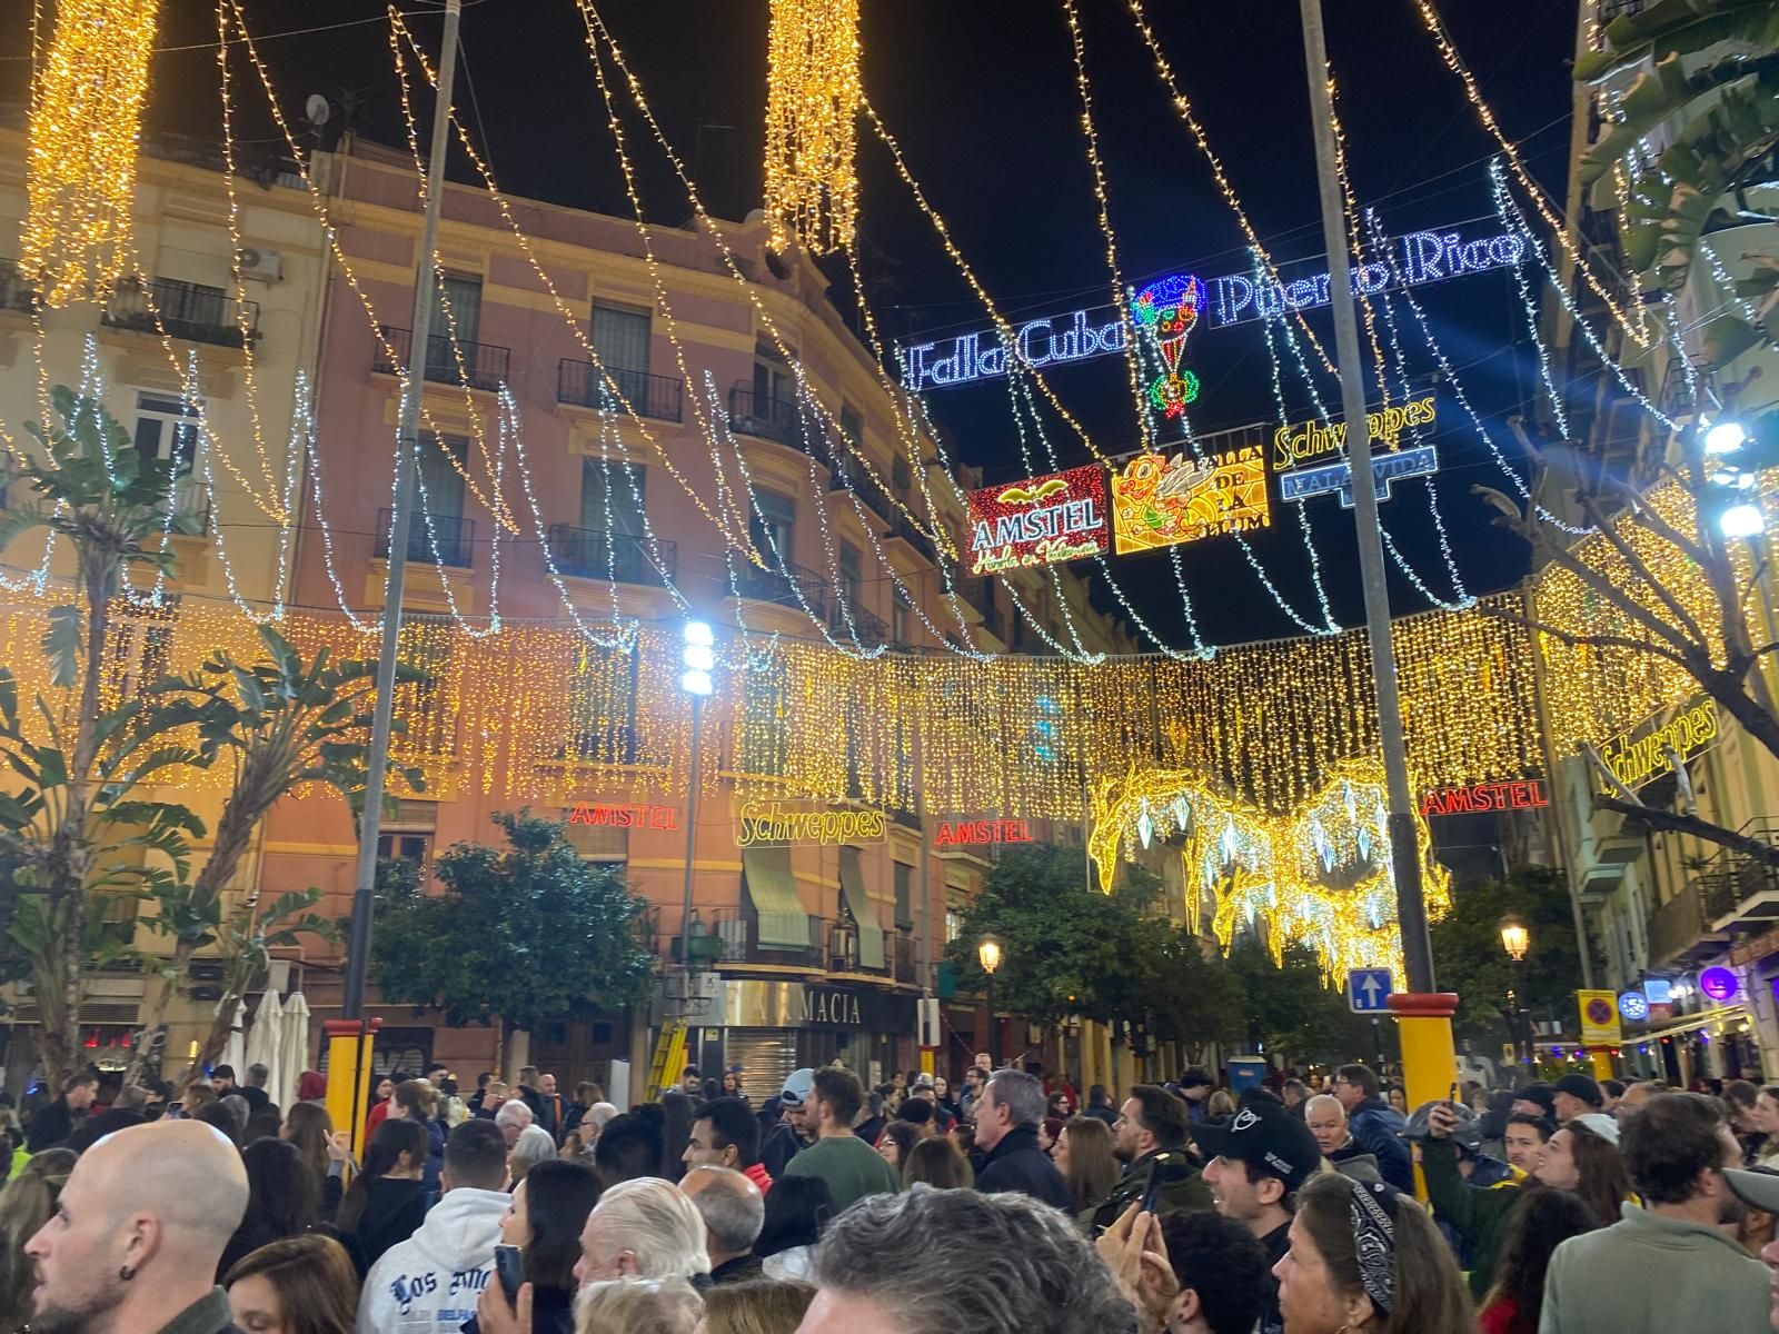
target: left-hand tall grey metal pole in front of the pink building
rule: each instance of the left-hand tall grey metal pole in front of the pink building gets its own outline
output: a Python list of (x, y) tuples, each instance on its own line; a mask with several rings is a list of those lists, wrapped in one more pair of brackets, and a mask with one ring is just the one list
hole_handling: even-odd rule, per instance
[(370, 715), (370, 761), (365, 774), (365, 815), (358, 834), (358, 884), (352, 891), (352, 937), (345, 955), (347, 1019), (365, 1014), (365, 973), (370, 968), (370, 911), (377, 882), (377, 836), (382, 832), (382, 792), (390, 768), (390, 722), (395, 710), (395, 660), (402, 639), (402, 585), (407, 582), (407, 470), (420, 445), (420, 395), (425, 391), (427, 342), (432, 336), (432, 251), (445, 199), (445, 148), (450, 135), (450, 91), (457, 75), (457, 23), (463, 0), (445, 0), (445, 41), (439, 48), (438, 107), (432, 112), (432, 157), (427, 160), (427, 208), (415, 272), (415, 318), (402, 379), (402, 413), (395, 439), (395, 512), (390, 516), (390, 578), (382, 599), (382, 653), (377, 658), (377, 703)]

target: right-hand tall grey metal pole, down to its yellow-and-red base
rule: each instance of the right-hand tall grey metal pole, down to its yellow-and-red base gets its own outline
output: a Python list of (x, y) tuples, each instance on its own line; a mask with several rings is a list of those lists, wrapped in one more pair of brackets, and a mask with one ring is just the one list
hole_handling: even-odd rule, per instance
[(1377, 731), (1384, 747), (1384, 783), (1389, 797), (1389, 847), (1397, 879), (1397, 920), (1409, 966), (1409, 991), (1434, 989), (1434, 955), (1421, 898), (1421, 857), (1414, 831), (1414, 795), (1409, 792), (1409, 756), (1402, 740), (1402, 701), (1397, 695), (1397, 658), (1389, 646), (1389, 585), (1384, 578), (1384, 541), (1377, 526), (1377, 482), (1372, 477), (1372, 430), (1364, 418), (1364, 363), (1359, 359), (1359, 324), (1352, 308), (1352, 256), (1347, 253), (1347, 212), (1334, 165), (1334, 98), (1327, 78), (1322, 37), (1322, 0), (1300, 0), (1304, 55), (1309, 62), (1309, 125), (1316, 139), (1316, 185), (1322, 197), (1322, 238), (1329, 253), (1329, 306), (1334, 311), (1334, 356), (1340, 365), (1341, 413), (1347, 418), (1347, 462), (1352, 470), (1352, 512), (1359, 525), (1359, 576), (1364, 585), (1364, 630), (1372, 642), (1372, 678), (1377, 687)]

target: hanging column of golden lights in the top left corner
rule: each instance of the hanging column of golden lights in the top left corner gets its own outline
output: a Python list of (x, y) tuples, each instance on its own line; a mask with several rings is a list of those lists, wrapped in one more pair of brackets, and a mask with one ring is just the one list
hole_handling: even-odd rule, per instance
[[(20, 274), (44, 306), (103, 301), (128, 272), (137, 135), (158, 0), (60, 0), (30, 84)], [(37, 23), (32, 20), (32, 44)]]

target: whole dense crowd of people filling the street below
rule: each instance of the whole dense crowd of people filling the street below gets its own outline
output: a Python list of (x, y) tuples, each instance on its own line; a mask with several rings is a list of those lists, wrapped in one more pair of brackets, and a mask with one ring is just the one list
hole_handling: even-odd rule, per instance
[(1356, 1064), (1083, 1106), (978, 1057), (955, 1094), (836, 1064), (756, 1106), (687, 1069), (619, 1112), (439, 1067), (379, 1081), (359, 1158), (297, 1092), (85, 1073), (4, 1110), (0, 1334), (1779, 1330), (1779, 1089), (1411, 1110)]

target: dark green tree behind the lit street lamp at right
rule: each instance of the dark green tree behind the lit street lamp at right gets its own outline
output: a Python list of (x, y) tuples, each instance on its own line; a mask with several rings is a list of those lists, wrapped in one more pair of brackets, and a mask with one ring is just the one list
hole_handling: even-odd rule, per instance
[(1582, 962), (1574, 912), (1562, 872), (1526, 866), (1505, 880), (1484, 880), (1452, 895), (1452, 911), (1432, 925), (1434, 976), (1459, 994), (1457, 1032), (1500, 1041), (1512, 1032), (1507, 992), (1517, 991), (1514, 960), (1501, 948), (1501, 918), (1517, 912), (1532, 934), (1525, 1005), (1560, 1014), (1574, 1003)]

